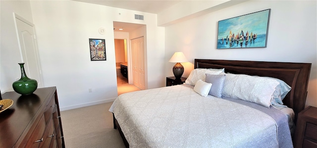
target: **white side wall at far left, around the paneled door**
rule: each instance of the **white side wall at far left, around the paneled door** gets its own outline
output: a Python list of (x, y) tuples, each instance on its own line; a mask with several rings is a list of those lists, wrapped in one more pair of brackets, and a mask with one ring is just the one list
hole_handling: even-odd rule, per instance
[(0, 0), (0, 89), (13, 91), (12, 83), (21, 77), (22, 62), (15, 31), (13, 12), (33, 22), (30, 1)]

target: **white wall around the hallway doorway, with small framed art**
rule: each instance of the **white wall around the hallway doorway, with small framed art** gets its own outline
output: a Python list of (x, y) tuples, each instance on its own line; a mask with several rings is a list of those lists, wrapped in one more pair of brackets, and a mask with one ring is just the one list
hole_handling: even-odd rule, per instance
[[(56, 86), (61, 110), (112, 101), (117, 97), (113, 21), (150, 26), (148, 36), (164, 37), (157, 15), (71, 0), (31, 1), (45, 86)], [(134, 20), (134, 14), (145, 16)], [(147, 19), (149, 18), (149, 19)], [(105, 35), (98, 32), (105, 28)], [(106, 40), (106, 61), (90, 61), (89, 38)], [(148, 42), (154, 39), (148, 40)], [(162, 46), (163, 47), (163, 46)], [(155, 47), (164, 55), (164, 49)], [(148, 60), (148, 64), (164, 57)], [(164, 78), (164, 63), (154, 69)], [(156, 79), (159, 82), (161, 80)], [(155, 87), (148, 84), (149, 87)], [(88, 89), (92, 89), (92, 93)]]

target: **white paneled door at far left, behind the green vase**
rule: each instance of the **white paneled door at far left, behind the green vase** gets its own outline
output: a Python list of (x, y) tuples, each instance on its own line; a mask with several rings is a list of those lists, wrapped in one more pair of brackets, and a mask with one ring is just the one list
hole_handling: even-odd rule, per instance
[(21, 60), (24, 62), (25, 73), (30, 79), (38, 82), (38, 88), (43, 86), (42, 72), (37, 50), (34, 24), (21, 16), (14, 14), (15, 27), (21, 53)]

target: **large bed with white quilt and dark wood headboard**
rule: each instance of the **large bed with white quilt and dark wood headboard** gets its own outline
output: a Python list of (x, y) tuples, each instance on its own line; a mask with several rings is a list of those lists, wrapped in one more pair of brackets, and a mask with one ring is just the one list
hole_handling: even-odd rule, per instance
[[(248, 79), (251, 77), (250, 79), (257, 81), (265, 80), (265, 84), (262, 83), (265, 86), (270, 82), (276, 82), (266, 79), (267, 77), (282, 80), (291, 87), (291, 90), (284, 94), (282, 104), (293, 111), (292, 122), (296, 123), (297, 114), (305, 108), (310, 63), (195, 59), (194, 68), (193, 71), (222, 69), (226, 80), (246, 75)], [(204, 80), (206, 82), (207, 76), (206, 74)], [(188, 79), (194, 80), (190, 77)], [(224, 81), (223, 90), (228, 91), (229, 83), (226, 82), (229, 81)], [(235, 99), (236, 96), (230, 95), (221, 98), (214, 95), (203, 96), (199, 92), (203, 89), (198, 89), (200, 84), (204, 86), (202, 88), (212, 87), (200, 81), (194, 86), (183, 84), (120, 95), (109, 111), (113, 113), (114, 128), (119, 130), (125, 146), (293, 147), (290, 119), (283, 111), (277, 109), (278, 107), (272, 107), (271, 102), (254, 103), (246, 99)], [(244, 87), (241, 85), (241, 88)], [(265, 87), (261, 85), (261, 88)], [(258, 89), (260, 92), (262, 90), (264, 89)], [(232, 91), (234, 92), (236, 91)]]

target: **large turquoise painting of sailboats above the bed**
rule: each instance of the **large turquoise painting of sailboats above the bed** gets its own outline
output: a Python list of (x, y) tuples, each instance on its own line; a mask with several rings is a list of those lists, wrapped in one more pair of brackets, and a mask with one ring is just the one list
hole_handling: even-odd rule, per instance
[(217, 49), (266, 48), (270, 12), (266, 9), (218, 21)]

